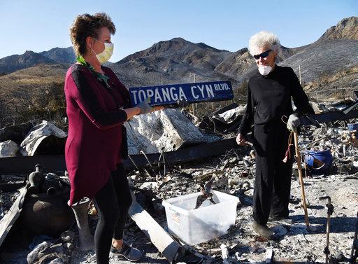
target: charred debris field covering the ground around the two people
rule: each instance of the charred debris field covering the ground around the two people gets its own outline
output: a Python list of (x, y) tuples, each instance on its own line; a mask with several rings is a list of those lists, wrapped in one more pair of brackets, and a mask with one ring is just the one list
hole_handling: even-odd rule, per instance
[[(169, 109), (129, 123), (134, 143), (125, 166), (134, 204), (126, 236), (145, 250), (143, 263), (355, 263), (358, 113), (349, 107), (355, 102), (342, 104), (315, 104), (321, 114), (301, 120), (310, 228), (295, 163), (291, 221), (268, 223), (274, 240), (252, 230), (255, 151), (235, 142), (245, 106), (229, 104), (200, 120)], [(155, 136), (148, 137), (148, 130)], [(67, 205), (69, 179), (61, 152), (66, 133), (43, 121), (4, 127), (0, 139), (1, 263), (94, 262), (96, 210), (90, 200)], [(162, 202), (201, 191), (199, 208), (212, 199), (210, 190), (238, 197), (235, 224), (226, 235), (189, 246), (170, 234)]]

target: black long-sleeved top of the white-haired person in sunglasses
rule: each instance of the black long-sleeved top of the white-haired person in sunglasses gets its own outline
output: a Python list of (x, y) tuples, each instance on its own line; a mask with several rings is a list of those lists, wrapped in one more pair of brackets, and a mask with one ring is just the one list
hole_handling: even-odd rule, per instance
[(267, 76), (257, 71), (248, 81), (248, 102), (238, 132), (245, 135), (252, 124), (278, 122), (282, 116), (288, 118), (294, 112), (291, 97), (296, 113), (315, 113), (292, 68), (275, 65)]

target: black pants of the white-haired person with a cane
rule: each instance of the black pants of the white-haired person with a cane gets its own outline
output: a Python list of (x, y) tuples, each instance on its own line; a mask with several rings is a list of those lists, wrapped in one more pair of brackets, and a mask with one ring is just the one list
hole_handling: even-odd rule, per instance
[(288, 146), (289, 131), (284, 123), (255, 125), (253, 144), (256, 152), (256, 177), (254, 188), (253, 218), (266, 224), (268, 216), (289, 214), (292, 158), (282, 162)]

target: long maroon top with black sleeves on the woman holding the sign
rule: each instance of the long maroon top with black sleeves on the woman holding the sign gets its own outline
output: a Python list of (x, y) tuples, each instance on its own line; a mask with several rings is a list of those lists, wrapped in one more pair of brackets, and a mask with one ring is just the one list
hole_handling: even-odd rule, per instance
[(127, 120), (122, 107), (130, 106), (129, 92), (112, 70), (102, 70), (109, 77), (108, 85), (82, 64), (73, 64), (66, 74), (70, 204), (94, 197), (122, 161), (122, 124)]

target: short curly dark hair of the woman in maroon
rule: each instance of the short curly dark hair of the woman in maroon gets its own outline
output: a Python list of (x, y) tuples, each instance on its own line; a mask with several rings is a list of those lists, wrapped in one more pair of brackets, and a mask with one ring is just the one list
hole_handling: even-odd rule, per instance
[(70, 27), (70, 36), (77, 56), (85, 55), (87, 36), (98, 38), (102, 27), (107, 27), (110, 34), (115, 34), (115, 25), (106, 13), (83, 14), (76, 17)]

